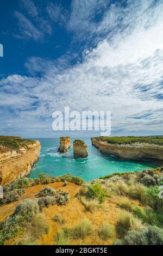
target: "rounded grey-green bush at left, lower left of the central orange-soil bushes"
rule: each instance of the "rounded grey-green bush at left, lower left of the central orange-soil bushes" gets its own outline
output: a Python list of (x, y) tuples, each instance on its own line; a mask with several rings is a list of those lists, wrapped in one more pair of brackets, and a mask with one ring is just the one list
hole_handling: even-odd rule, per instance
[(15, 215), (23, 216), (27, 221), (39, 214), (39, 205), (36, 200), (26, 199), (16, 206)]

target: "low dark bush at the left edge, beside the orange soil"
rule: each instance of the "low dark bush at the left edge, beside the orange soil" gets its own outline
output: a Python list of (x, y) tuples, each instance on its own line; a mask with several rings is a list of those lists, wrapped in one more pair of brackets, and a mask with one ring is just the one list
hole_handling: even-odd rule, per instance
[(20, 188), (17, 190), (12, 190), (12, 191), (3, 193), (3, 199), (0, 199), (0, 205), (16, 202), (17, 200), (20, 199), (22, 194), (24, 194), (25, 192), (26, 190), (24, 188)]

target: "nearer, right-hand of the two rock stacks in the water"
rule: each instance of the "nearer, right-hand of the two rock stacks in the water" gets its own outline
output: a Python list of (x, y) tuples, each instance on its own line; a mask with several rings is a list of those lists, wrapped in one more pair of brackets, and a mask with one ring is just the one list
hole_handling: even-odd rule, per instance
[(88, 156), (87, 145), (84, 141), (76, 139), (76, 141), (73, 142), (73, 154), (74, 156), (81, 158), (86, 158)]

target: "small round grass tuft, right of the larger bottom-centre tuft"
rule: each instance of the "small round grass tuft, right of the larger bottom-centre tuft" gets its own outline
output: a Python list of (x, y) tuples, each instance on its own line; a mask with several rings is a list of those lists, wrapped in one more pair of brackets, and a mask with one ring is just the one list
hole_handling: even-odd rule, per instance
[(115, 229), (111, 225), (103, 223), (101, 228), (98, 230), (98, 235), (102, 240), (106, 241), (110, 237), (115, 236)]

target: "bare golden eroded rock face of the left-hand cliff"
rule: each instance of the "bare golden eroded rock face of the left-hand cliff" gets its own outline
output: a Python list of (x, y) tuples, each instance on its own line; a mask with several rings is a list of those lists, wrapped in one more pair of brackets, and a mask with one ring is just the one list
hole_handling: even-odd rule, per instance
[(41, 145), (39, 141), (28, 143), (28, 148), (0, 150), (0, 185), (27, 176), (34, 163), (39, 160)]

